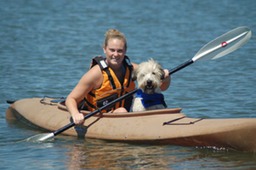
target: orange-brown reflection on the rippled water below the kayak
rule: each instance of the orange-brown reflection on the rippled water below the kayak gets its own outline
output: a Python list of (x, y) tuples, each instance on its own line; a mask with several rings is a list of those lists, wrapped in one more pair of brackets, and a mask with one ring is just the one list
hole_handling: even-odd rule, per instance
[[(96, 143), (94, 143), (96, 142)], [(166, 155), (164, 146), (137, 146), (94, 141), (73, 145), (70, 152), (69, 169), (153, 169), (166, 168), (176, 157)], [(158, 155), (156, 157), (156, 155)]]

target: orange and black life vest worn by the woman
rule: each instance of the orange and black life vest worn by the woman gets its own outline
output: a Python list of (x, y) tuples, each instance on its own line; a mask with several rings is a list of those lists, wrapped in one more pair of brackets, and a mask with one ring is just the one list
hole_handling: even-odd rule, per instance
[[(125, 56), (123, 61), (123, 82), (119, 81), (116, 74), (110, 67), (108, 67), (105, 60), (106, 59), (102, 56), (92, 59), (90, 68), (98, 64), (103, 74), (103, 81), (100, 88), (93, 89), (85, 97), (86, 109), (90, 111), (101, 108), (114, 99), (117, 99), (118, 97), (135, 89), (135, 83), (132, 81), (133, 66), (127, 56)], [(132, 104), (132, 99), (133, 96), (127, 97), (126, 99), (117, 102), (115, 105), (102, 110), (102, 112), (108, 112), (119, 107), (124, 107), (127, 111), (129, 111)]]

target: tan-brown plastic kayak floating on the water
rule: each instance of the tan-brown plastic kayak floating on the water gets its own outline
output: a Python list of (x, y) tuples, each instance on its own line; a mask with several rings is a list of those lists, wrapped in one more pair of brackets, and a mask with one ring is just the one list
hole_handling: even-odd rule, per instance
[[(64, 99), (47, 97), (17, 100), (6, 110), (6, 119), (55, 131), (72, 121), (64, 103)], [(181, 110), (98, 113), (62, 134), (117, 142), (256, 152), (256, 118), (189, 118)]]

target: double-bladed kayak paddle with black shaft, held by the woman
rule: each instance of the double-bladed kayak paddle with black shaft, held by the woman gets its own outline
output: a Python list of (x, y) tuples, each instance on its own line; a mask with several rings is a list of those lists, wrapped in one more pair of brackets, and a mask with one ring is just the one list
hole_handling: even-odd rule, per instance
[[(223, 34), (222, 36), (216, 38), (215, 40), (209, 42), (205, 46), (203, 46), (196, 55), (186, 61), (185, 63), (179, 65), (178, 67), (169, 70), (169, 75), (179, 71), (182, 68), (185, 68), (189, 66), (190, 64), (200, 60), (200, 59), (218, 59), (220, 57), (223, 57), (224, 55), (227, 55), (234, 50), (240, 48), (242, 45), (244, 45), (251, 37), (252, 33), (251, 30), (248, 27), (238, 27), (234, 30), (231, 30), (227, 32), (226, 34)], [(106, 104), (105, 106), (102, 106), (98, 110), (95, 110), (87, 115), (84, 116), (84, 120), (90, 118), (91, 116), (99, 113), (101, 110), (115, 104), (116, 102), (119, 102), (126, 97), (136, 93), (137, 89), (113, 100), (112, 102)], [(75, 126), (75, 123), (71, 122), (68, 125), (52, 132), (49, 134), (39, 134), (33, 137), (28, 138), (28, 140), (33, 141), (45, 141), (48, 139), (53, 138), (54, 136), (62, 133), (63, 131)]]

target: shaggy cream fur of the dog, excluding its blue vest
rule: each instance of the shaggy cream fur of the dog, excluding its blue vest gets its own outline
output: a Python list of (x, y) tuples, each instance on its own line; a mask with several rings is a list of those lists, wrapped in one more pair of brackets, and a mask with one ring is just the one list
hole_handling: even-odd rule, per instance
[[(133, 78), (137, 80), (138, 88), (145, 94), (161, 93), (160, 85), (164, 78), (164, 70), (159, 63), (153, 59), (149, 59), (138, 65), (133, 73)], [(132, 104), (132, 111), (145, 111), (154, 109), (163, 109), (163, 104), (157, 104), (145, 108), (142, 104), (141, 97), (135, 97)]]

